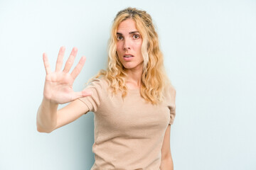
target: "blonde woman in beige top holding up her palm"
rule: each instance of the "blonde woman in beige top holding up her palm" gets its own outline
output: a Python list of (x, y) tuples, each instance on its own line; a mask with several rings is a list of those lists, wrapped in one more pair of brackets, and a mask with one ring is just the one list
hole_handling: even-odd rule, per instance
[[(136, 8), (117, 13), (112, 25), (108, 67), (86, 89), (73, 92), (85, 57), (69, 74), (77, 49), (55, 72), (46, 54), (46, 83), (38, 109), (39, 132), (51, 132), (88, 111), (95, 113), (95, 164), (92, 169), (173, 169), (170, 130), (176, 91), (164, 73), (163, 56), (151, 16)], [(68, 103), (59, 111), (58, 104)]]

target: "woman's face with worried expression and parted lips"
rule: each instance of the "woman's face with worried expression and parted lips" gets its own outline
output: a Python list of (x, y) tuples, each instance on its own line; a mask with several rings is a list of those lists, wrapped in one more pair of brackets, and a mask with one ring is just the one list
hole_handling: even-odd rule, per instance
[(125, 69), (142, 70), (142, 36), (131, 18), (117, 28), (117, 55)]

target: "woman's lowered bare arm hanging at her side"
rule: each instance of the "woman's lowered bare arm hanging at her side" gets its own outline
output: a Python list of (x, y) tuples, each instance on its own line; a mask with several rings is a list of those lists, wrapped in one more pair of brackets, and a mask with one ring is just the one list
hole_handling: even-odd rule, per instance
[(174, 170), (174, 163), (171, 157), (171, 149), (170, 149), (170, 133), (171, 133), (171, 125), (168, 125), (166, 128), (166, 132), (164, 134), (164, 142), (161, 147), (161, 170)]

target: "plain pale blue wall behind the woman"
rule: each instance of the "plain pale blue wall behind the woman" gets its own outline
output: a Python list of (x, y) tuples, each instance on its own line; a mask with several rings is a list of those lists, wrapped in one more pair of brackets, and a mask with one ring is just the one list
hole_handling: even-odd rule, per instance
[[(93, 113), (36, 131), (43, 52), (87, 57), (75, 91), (107, 65), (116, 13), (142, 8), (156, 24), (176, 87), (174, 169), (256, 169), (256, 1), (0, 1), (0, 169), (90, 169)], [(63, 106), (60, 106), (63, 107)]]

